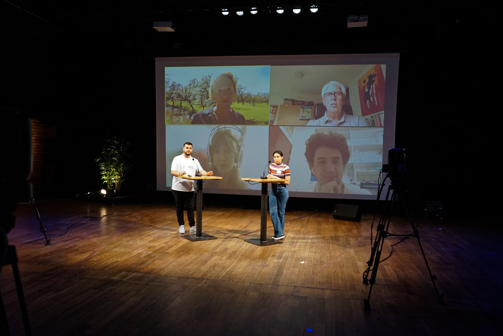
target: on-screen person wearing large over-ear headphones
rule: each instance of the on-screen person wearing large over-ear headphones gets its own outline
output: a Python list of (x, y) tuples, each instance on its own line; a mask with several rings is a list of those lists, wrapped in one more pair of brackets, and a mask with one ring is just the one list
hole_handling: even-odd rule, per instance
[[(243, 161), (243, 133), (236, 126), (215, 127), (208, 140), (209, 170), (222, 180), (212, 181), (211, 188), (246, 189), (241, 181), (239, 167)], [(210, 182), (210, 181), (208, 181)]]

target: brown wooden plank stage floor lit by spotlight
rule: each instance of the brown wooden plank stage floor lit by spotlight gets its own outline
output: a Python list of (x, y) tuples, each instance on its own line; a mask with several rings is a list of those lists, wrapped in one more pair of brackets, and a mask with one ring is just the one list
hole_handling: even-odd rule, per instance
[[(35, 206), (51, 244), (30, 204), (17, 206), (8, 234), (34, 335), (471, 335), (503, 326), (494, 219), (413, 218), (443, 304), (416, 238), (389, 236), (364, 310), (371, 213), (348, 222), (289, 211), (283, 243), (258, 246), (244, 241), (260, 238), (256, 209), (205, 207), (202, 231), (217, 239), (190, 241), (171, 204)], [(391, 217), (389, 232), (411, 231), (406, 217)], [(24, 334), (10, 265), (0, 284), (11, 333)]]

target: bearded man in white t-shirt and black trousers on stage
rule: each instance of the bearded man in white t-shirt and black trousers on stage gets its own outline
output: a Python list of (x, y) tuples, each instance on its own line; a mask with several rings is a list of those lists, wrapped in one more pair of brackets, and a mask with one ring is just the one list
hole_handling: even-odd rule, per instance
[(185, 142), (183, 154), (175, 156), (171, 163), (171, 175), (173, 184), (171, 190), (175, 196), (177, 208), (177, 220), (180, 225), (180, 233), (185, 233), (184, 208), (187, 210), (190, 233), (196, 233), (196, 221), (194, 220), (194, 181), (180, 178), (181, 176), (195, 176), (199, 173), (204, 176), (212, 176), (213, 172), (206, 172), (196, 158), (191, 156), (192, 143)]

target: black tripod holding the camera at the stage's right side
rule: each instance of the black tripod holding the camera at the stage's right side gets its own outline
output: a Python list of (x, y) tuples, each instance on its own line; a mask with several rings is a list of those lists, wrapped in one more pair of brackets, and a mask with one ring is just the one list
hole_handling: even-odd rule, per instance
[[(363, 284), (368, 285), (370, 282), (370, 290), (369, 290), (369, 296), (367, 299), (364, 299), (364, 309), (369, 310), (370, 309), (370, 295), (372, 294), (372, 286), (374, 286), (376, 282), (376, 276), (377, 276), (377, 269), (379, 267), (379, 259), (381, 258), (381, 251), (382, 251), (382, 246), (384, 243), (384, 238), (387, 236), (412, 236), (416, 237), (417, 243), (419, 244), (419, 247), (421, 248), (421, 253), (423, 254), (423, 258), (425, 260), (426, 268), (428, 269), (428, 273), (430, 273), (430, 279), (432, 279), (433, 287), (435, 288), (435, 292), (437, 293), (437, 302), (442, 303), (444, 295), (440, 295), (437, 286), (435, 285), (435, 280), (437, 280), (436, 275), (432, 275), (432, 271), (430, 270), (430, 266), (428, 266), (428, 261), (426, 260), (425, 256), (425, 251), (423, 250), (423, 246), (421, 245), (421, 240), (419, 239), (419, 231), (417, 228), (414, 227), (412, 223), (412, 219), (410, 218), (410, 214), (407, 211), (407, 207), (405, 205), (405, 198), (404, 195), (401, 191), (400, 183), (401, 183), (401, 176), (400, 173), (388, 173), (386, 174), (386, 178), (384, 179), (382, 183), (381, 190), (378, 193), (377, 200), (379, 200), (379, 195), (381, 194), (382, 188), (384, 187), (384, 182), (388, 179), (388, 177), (391, 180), (391, 185), (388, 188), (388, 192), (386, 193), (386, 199), (384, 201), (384, 209), (381, 214), (381, 217), (379, 218), (379, 223), (377, 224), (377, 232), (376, 232), (376, 237), (374, 240), (374, 245), (372, 246), (372, 252), (370, 254), (370, 260), (367, 262), (367, 265), (369, 266), (365, 272), (363, 273)], [(389, 199), (389, 192), (390, 190), (393, 190), (393, 193), (391, 194), (391, 199)], [(392, 234), (388, 232), (389, 229), (389, 222), (391, 220), (391, 209), (393, 205), (393, 201), (395, 199), (396, 195), (399, 195), (399, 198), (402, 200), (403, 207), (405, 209), (405, 212), (407, 213), (407, 216), (410, 221), (410, 226), (412, 227), (412, 232), (409, 234)], [(389, 199), (389, 201), (388, 201)], [(374, 264), (374, 268), (371, 267)], [(369, 272), (372, 271), (372, 274), (370, 276), (370, 280), (368, 279)]]

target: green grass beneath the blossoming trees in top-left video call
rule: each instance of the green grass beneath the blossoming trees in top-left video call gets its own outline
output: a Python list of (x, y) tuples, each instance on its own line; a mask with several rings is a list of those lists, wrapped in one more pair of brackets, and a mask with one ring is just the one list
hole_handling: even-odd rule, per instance
[[(168, 107), (171, 107), (172, 102), (169, 101), (167, 102), (169, 105)], [(175, 107), (179, 108), (180, 107), (180, 102), (175, 103)], [(258, 104), (256, 103), (255, 106), (250, 103), (232, 103), (231, 105), (232, 109), (236, 112), (241, 113), (244, 116), (244, 119), (246, 119), (246, 124), (247, 125), (269, 125), (269, 104), (263, 103), (263, 104)], [(171, 112), (166, 109), (165, 113), (165, 123), (166, 125), (171, 125), (171, 124), (190, 124), (191, 119), (189, 117), (189, 113), (187, 111), (192, 111), (192, 108), (187, 102), (182, 102), (182, 108), (185, 110), (184, 112)], [(208, 107), (207, 107), (208, 108)], [(201, 105), (194, 105), (194, 109), (196, 110), (196, 113), (199, 111), (203, 110), (203, 107)]]

